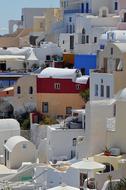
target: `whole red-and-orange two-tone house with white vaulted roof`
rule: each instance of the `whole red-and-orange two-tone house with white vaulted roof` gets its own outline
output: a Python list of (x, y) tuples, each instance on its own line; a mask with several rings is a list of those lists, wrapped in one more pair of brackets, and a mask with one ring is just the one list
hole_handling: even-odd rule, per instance
[(46, 68), (37, 77), (37, 111), (65, 117), (84, 106), (80, 92), (88, 87), (89, 76), (76, 69)]

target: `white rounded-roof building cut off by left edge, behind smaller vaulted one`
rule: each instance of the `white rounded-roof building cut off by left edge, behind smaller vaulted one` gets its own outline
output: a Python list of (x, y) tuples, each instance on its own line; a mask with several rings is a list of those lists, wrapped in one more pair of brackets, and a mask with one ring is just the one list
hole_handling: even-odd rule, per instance
[(0, 154), (4, 155), (3, 145), (15, 135), (20, 135), (20, 124), (15, 119), (0, 119)]

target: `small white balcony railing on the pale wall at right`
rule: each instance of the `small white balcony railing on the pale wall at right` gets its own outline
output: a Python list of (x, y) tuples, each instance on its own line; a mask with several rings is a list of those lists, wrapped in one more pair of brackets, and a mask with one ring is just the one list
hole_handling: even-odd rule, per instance
[(106, 123), (106, 128), (107, 128), (107, 131), (116, 131), (116, 120), (115, 120), (115, 117), (111, 117), (111, 118), (107, 118), (107, 123)]

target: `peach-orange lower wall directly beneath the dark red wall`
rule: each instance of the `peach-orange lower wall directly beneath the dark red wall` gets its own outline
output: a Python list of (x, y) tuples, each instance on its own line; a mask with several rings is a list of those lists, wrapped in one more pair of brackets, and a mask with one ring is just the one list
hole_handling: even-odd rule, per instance
[(80, 109), (85, 103), (78, 93), (37, 93), (37, 111), (42, 113), (42, 103), (48, 102), (48, 115), (66, 117), (71, 109)]

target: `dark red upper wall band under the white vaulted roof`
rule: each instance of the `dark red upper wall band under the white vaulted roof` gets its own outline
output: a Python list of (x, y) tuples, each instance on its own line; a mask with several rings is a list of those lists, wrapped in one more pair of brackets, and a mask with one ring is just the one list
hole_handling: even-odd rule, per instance
[[(54, 83), (60, 83), (60, 90), (54, 89)], [(71, 79), (37, 78), (37, 93), (79, 93), (89, 88), (89, 82), (80, 84), (79, 90), (76, 84)]]

